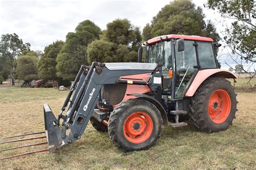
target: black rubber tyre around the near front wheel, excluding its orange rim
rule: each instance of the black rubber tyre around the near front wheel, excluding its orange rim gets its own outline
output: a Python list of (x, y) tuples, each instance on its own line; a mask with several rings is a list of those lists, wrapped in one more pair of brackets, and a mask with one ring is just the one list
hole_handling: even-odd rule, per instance
[[(132, 143), (127, 140), (124, 134), (125, 121), (136, 112), (143, 112), (146, 116), (149, 116), (153, 126), (152, 132), (149, 133), (150, 136), (141, 143)], [(138, 98), (130, 99), (120, 103), (111, 113), (108, 123), (109, 136), (112, 142), (124, 151), (145, 150), (156, 144), (157, 139), (160, 137), (162, 124), (163, 119), (161, 118), (160, 111), (154, 104)], [(146, 126), (149, 127), (149, 125)]]

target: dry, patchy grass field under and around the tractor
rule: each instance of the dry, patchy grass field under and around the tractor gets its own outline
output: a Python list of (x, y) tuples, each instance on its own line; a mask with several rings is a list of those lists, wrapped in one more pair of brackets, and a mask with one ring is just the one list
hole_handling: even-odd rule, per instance
[[(43, 103), (58, 114), (67, 91), (52, 88), (0, 87), (0, 138), (44, 131)], [(256, 168), (256, 93), (238, 93), (237, 118), (226, 131), (203, 133), (191, 124), (183, 128), (165, 127), (157, 144), (146, 151), (124, 153), (107, 133), (91, 124), (83, 138), (55, 153), (38, 153), (0, 161), (0, 167), (35, 168)], [(45, 139), (38, 140), (45, 141)], [(0, 141), (1, 142), (1, 141)], [(36, 142), (36, 141), (33, 141)], [(19, 143), (29, 144), (29, 142)], [(15, 144), (9, 146), (16, 146)], [(7, 145), (0, 145), (0, 150)], [(46, 145), (0, 153), (0, 157)]]

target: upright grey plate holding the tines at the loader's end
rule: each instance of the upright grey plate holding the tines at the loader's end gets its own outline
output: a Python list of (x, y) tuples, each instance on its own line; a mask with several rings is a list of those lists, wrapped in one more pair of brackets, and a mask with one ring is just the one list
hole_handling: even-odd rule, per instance
[(54, 152), (62, 145), (62, 129), (48, 104), (44, 104), (44, 125), (49, 151)]

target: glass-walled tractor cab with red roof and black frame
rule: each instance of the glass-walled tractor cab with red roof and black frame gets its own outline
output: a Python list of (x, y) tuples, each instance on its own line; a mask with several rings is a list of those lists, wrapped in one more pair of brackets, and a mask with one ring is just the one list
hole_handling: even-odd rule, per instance
[(168, 35), (146, 42), (146, 62), (162, 66), (163, 95), (183, 98), (198, 70), (218, 68), (211, 38)]

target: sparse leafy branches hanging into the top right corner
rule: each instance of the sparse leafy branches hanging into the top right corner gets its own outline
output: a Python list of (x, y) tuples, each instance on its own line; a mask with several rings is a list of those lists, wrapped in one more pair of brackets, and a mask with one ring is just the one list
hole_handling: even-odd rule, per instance
[(208, 0), (207, 8), (217, 9), (224, 18), (233, 19), (232, 27), (226, 28), (224, 40), (232, 53), (247, 62), (256, 62), (256, 1)]

